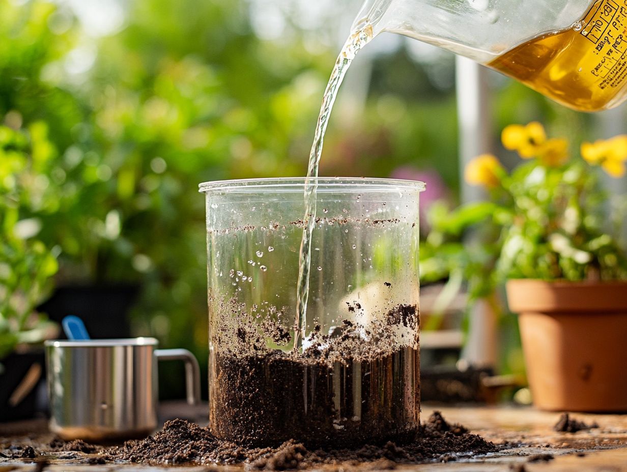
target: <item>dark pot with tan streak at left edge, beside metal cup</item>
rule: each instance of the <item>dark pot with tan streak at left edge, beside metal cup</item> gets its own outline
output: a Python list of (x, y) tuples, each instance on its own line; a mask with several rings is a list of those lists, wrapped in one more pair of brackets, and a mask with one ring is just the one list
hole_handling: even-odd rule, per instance
[(9, 354), (0, 360), (0, 422), (32, 418), (45, 408), (40, 389), (45, 382), (43, 349)]

